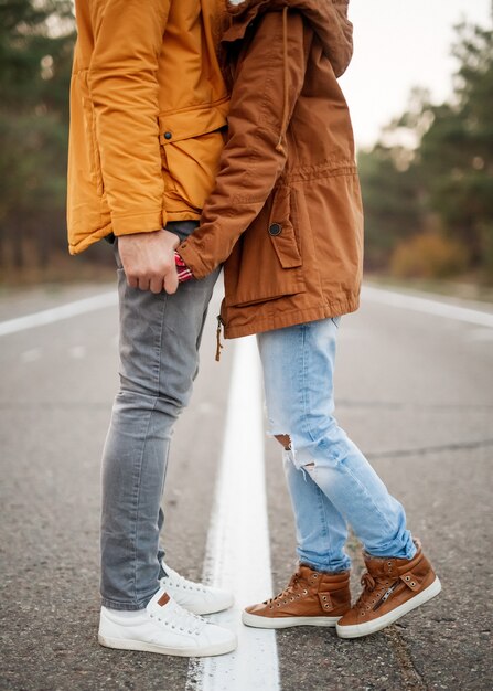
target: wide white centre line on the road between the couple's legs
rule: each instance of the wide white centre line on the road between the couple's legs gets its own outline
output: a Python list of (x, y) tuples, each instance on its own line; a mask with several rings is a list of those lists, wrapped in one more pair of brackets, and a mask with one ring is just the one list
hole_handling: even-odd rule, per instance
[(238, 649), (191, 660), (186, 691), (278, 691), (274, 630), (240, 623), (242, 609), (271, 595), (260, 366), (254, 337), (235, 343), (223, 456), (208, 530), (204, 581), (235, 594), (211, 617), (235, 630)]

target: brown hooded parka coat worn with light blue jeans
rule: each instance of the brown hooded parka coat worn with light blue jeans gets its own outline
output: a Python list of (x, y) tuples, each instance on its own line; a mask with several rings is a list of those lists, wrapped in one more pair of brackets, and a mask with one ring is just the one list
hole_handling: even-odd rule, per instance
[(196, 278), (225, 262), (226, 338), (358, 307), (363, 215), (337, 77), (347, 0), (246, 0), (223, 36), (228, 140), (202, 223), (179, 248)]

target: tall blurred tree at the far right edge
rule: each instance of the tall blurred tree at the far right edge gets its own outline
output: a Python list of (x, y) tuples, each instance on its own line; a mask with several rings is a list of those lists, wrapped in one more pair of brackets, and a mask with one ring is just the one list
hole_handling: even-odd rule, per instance
[[(462, 24), (454, 54), (460, 61), (456, 103), (431, 108), (433, 120), (419, 149), (429, 206), (446, 232), (470, 252), (471, 265), (487, 267), (493, 246), (493, 32)], [(486, 265), (485, 265), (486, 263)]]

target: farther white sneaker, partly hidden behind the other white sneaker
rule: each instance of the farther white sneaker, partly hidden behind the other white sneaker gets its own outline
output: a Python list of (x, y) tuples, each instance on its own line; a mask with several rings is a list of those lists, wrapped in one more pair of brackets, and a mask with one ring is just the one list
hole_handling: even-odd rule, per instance
[(213, 614), (233, 605), (233, 594), (202, 583), (187, 581), (170, 568), (164, 560), (161, 562), (168, 574), (160, 580), (160, 585), (182, 607), (193, 614)]

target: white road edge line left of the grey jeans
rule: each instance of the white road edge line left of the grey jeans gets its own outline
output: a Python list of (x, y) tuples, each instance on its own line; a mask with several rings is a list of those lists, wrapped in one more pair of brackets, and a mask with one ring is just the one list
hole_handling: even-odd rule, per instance
[(47, 323), (60, 321), (61, 319), (69, 319), (77, 315), (84, 315), (86, 312), (93, 312), (97, 309), (104, 309), (105, 307), (111, 307), (117, 305), (118, 294), (116, 290), (110, 293), (100, 293), (90, 298), (84, 298), (83, 300), (76, 300), (75, 302), (67, 302), (60, 307), (53, 307), (52, 309), (45, 309), (41, 312), (34, 312), (33, 315), (26, 315), (25, 317), (17, 317), (15, 319), (9, 319), (8, 321), (0, 322), (0, 336), (8, 336), (9, 333), (17, 333), (18, 331), (24, 331), (25, 329), (32, 329), (33, 327), (43, 327)]

